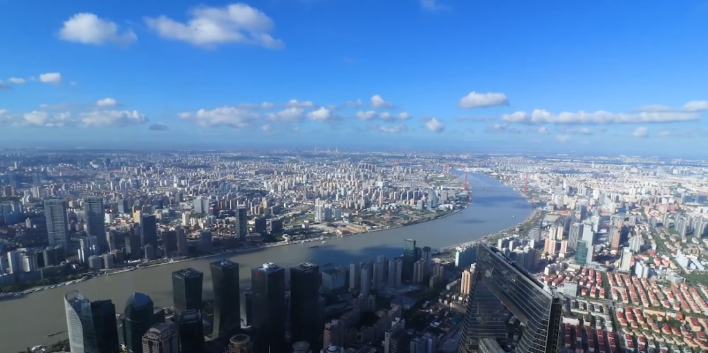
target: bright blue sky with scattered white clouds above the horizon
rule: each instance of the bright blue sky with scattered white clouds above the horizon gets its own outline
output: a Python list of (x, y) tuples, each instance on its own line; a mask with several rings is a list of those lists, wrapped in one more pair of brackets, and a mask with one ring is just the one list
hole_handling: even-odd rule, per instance
[(0, 146), (708, 148), (707, 1), (1, 1), (0, 13)]

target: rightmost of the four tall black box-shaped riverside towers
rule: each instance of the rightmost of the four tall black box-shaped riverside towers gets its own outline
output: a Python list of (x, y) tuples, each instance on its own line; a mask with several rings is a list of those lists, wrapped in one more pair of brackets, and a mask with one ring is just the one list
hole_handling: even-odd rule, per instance
[(324, 320), (315, 309), (318, 301), (319, 266), (303, 262), (290, 267), (290, 341), (305, 341), (315, 352), (320, 350), (317, 342), (324, 330)]

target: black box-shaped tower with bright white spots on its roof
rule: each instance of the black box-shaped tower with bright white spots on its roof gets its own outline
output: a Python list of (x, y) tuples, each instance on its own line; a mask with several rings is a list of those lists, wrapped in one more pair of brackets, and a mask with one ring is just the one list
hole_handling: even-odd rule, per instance
[(251, 327), (257, 336), (255, 352), (287, 352), (284, 268), (268, 262), (251, 270), (251, 306)]

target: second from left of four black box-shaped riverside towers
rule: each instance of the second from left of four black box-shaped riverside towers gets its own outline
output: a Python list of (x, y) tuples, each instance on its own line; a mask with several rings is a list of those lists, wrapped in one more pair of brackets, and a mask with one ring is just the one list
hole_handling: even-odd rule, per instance
[(229, 260), (210, 264), (214, 286), (213, 337), (231, 337), (241, 328), (239, 264)]

